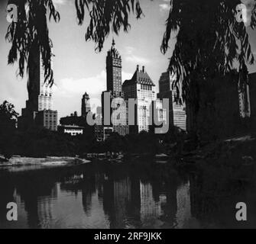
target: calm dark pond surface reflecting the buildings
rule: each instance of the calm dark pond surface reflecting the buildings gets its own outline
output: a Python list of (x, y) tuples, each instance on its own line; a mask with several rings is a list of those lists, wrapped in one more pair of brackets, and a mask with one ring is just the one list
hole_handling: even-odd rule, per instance
[[(0, 228), (254, 227), (251, 186), (232, 185), (233, 194), (214, 182), (157, 164), (0, 169)], [(241, 200), (251, 207), (243, 224), (235, 220)], [(6, 220), (11, 201), (18, 222)]]

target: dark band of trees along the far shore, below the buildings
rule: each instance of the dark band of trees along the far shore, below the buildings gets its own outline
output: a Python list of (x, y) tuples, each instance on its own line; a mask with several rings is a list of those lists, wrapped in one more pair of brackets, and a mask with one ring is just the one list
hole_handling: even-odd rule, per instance
[[(216, 136), (212, 140), (202, 140), (199, 134), (188, 135), (182, 130), (173, 127), (167, 134), (154, 134), (141, 132), (138, 135), (119, 136), (112, 133), (108, 140), (99, 142), (93, 136), (86, 134), (70, 136), (59, 132), (53, 132), (44, 128), (31, 127), (27, 131), (20, 131), (16, 128), (18, 114), (14, 106), (5, 101), (0, 106), (0, 154), (6, 160), (13, 155), (45, 157), (45, 156), (84, 156), (86, 153), (122, 152), (124, 154), (151, 154), (167, 153), (172, 156), (183, 156), (187, 152), (193, 152), (201, 158), (221, 159), (222, 156), (236, 156), (241, 159), (255, 159), (256, 145), (254, 140), (247, 142), (238, 141), (223, 142), (222, 138)], [(253, 131), (249, 122), (244, 122), (244, 127), (238, 130), (237, 135)], [(251, 133), (252, 138), (253, 134)], [(233, 144), (234, 145), (233, 145)], [(240, 146), (237, 146), (240, 145)], [(249, 150), (249, 151), (248, 151)], [(193, 156), (192, 153), (192, 156)], [(191, 153), (190, 153), (191, 154)], [(246, 158), (247, 157), (247, 158)], [(250, 158), (251, 157), (251, 158)], [(225, 163), (225, 160), (223, 160)], [(220, 162), (220, 161), (219, 161)], [(235, 163), (235, 161), (234, 161)]]

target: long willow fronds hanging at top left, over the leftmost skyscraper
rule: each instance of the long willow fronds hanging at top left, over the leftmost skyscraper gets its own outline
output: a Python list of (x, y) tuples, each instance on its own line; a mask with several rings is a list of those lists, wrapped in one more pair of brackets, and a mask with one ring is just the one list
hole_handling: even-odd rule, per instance
[(18, 61), (18, 75), (24, 76), (24, 69), (30, 69), (29, 56), (36, 47), (41, 51), (44, 66), (45, 82), (53, 85), (53, 70), (51, 57), (53, 56), (52, 43), (47, 27), (47, 11), (49, 20), (60, 21), (60, 14), (56, 11), (52, 0), (16, 0), (18, 6), (18, 21), (12, 22), (5, 36), (11, 45), (8, 54), (8, 64)]

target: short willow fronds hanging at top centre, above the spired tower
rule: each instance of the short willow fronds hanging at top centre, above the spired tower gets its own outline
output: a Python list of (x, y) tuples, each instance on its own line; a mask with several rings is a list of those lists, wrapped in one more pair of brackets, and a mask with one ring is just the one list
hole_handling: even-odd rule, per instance
[(90, 17), (86, 40), (93, 40), (99, 52), (111, 28), (115, 34), (118, 34), (122, 27), (128, 32), (129, 14), (135, 13), (137, 18), (143, 15), (138, 0), (76, 0), (76, 13), (80, 25), (83, 24), (86, 10), (89, 11)]

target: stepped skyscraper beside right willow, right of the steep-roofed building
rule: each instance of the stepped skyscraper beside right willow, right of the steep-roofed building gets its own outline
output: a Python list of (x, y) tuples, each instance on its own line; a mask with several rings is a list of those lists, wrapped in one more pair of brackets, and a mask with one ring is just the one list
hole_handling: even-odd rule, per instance
[(170, 118), (170, 122), (173, 122), (175, 127), (179, 127), (182, 130), (187, 130), (186, 127), (186, 104), (183, 102), (183, 99), (180, 97), (180, 101), (175, 100), (177, 95), (177, 88), (173, 88), (173, 82), (177, 79), (176, 75), (171, 74), (170, 72), (164, 72), (159, 79), (159, 94), (158, 98), (169, 98), (172, 100), (169, 114), (173, 116)]

